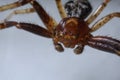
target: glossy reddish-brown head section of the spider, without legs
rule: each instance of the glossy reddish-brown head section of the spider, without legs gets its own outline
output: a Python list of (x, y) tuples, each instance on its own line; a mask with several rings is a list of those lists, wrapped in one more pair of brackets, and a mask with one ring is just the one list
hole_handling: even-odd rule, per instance
[(85, 41), (89, 33), (87, 24), (76, 17), (64, 18), (55, 28), (55, 38), (65, 47), (74, 48), (75, 45)]

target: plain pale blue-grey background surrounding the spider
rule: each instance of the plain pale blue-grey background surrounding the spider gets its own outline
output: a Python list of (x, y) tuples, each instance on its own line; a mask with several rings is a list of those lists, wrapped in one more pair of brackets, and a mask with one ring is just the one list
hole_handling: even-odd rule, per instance
[[(15, 1), (0, 0), (0, 5)], [(90, 0), (93, 11), (102, 1)], [(54, 0), (39, 0), (39, 3), (57, 22), (61, 20)], [(17, 9), (28, 7), (31, 5)], [(12, 11), (0, 12), (0, 20)], [(120, 0), (111, 0), (97, 20), (112, 12), (120, 12)], [(17, 15), (11, 20), (44, 26), (36, 13)], [(120, 40), (120, 19), (112, 19), (93, 35)], [(0, 31), (0, 80), (120, 80), (120, 57), (88, 46), (81, 55), (75, 55), (72, 49), (58, 53), (51, 39), (12, 27)]]

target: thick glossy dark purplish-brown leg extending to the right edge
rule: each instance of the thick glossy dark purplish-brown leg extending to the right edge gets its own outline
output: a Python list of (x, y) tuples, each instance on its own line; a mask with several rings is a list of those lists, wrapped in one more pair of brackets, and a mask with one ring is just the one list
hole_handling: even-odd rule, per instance
[(107, 36), (95, 36), (88, 40), (88, 46), (120, 56), (120, 41)]

